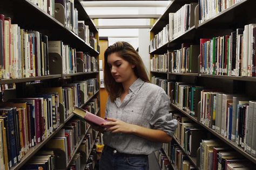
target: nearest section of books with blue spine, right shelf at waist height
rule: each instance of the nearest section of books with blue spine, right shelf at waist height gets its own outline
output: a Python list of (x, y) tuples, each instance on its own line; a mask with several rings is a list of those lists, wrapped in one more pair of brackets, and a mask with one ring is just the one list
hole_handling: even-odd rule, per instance
[(255, 102), (216, 91), (202, 90), (201, 97), (200, 121), (256, 157)]

